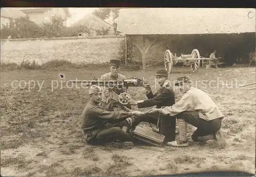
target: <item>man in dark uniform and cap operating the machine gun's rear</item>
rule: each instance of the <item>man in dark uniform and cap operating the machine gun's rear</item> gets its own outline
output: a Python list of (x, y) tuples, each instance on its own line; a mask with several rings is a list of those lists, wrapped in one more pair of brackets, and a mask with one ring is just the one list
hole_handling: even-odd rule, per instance
[[(157, 93), (153, 94), (151, 90), (151, 86), (149, 84), (145, 84), (144, 87), (147, 90), (146, 96), (148, 99), (141, 100), (141, 101), (135, 101), (131, 99), (129, 101), (130, 104), (137, 105), (138, 108), (152, 107), (152, 106), (156, 106), (156, 108), (161, 108), (164, 106), (172, 106), (173, 104), (175, 104), (175, 93), (173, 91), (170, 81), (168, 81), (167, 71), (158, 70), (155, 76), (158, 84), (160, 85), (160, 89), (157, 91)], [(148, 122), (148, 123), (153, 123), (155, 125), (159, 124), (160, 133), (166, 136), (166, 141), (174, 141), (175, 129), (176, 129), (176, 118), (174, 117), (172, 120), (170, 120), (170, 119), (165, 119), (164, 116), (161, 116), (161, 120), (158, 120), (159, 117), (160, 117), (159, 114), (151, 115), (151, 116), (143, 116), (141, 118), (136, 119), (133, 122), (133, 127), (137, 126), (140, 122)], [(161, 126), (161, 122), (162, 122), (162, 126)]]

